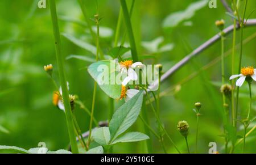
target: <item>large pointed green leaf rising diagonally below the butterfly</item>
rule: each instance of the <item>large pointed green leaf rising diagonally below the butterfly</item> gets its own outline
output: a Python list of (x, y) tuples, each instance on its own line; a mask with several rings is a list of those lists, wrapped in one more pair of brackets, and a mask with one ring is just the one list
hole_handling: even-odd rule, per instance
[(137, 120), (143, 101), (143, 90), (115, 111), (109, 122), (112, 142)]

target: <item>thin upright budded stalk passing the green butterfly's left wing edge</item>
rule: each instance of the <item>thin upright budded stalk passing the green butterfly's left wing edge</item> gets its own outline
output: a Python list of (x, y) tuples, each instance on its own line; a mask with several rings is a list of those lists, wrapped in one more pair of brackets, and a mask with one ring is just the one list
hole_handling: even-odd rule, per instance
[[(98, 3), (96, 1), (96, 6), (98, 6)], [(98, 19), (98, 7), (97, 8), (97, 14), (95, 15), (95, 21), (96, 21), (96, 26), (97, 26), (97, 36), (96, 36), (96, 61), (98, 61), (98, 55), (100, 53), (100, 26), (99, 26), (99, 19)], [(91, 137), (92, 137), (92, 125), (93, 125), (93, 114), (94, 114), (94, 108), (95, 108), (95, 100), (96, 100), (96, 91), (97, 91), (97, 82), (94, 81), (94, 87), (93, 87), (93, 100), (92, 100), (92, 111), (90, 112), (90, 126), (89, 126), (89, 136), (88, 136), (88, 142), (87, 146), (89, 147)]]

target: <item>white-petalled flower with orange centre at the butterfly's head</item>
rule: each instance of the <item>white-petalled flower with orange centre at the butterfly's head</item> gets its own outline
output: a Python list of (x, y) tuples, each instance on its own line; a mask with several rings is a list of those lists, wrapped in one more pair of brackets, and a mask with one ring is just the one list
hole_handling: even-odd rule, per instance
[[(118, 63), (117, 58), (115, 58), (114, 61)], [(122, 81), (123, 86), (126, 86), (126, 84), (129, 83), (130, 81), (137, 81), (138, 75), (134, 71), (134, 69), (135, 67), (143, 66), (142, 62), (133, 63), (133, 60), (126, 60), (126, 61), (121, 61), (118, 64), (120, 66), (121, 74), (122, 73), (127, 74), (127, 77)]]

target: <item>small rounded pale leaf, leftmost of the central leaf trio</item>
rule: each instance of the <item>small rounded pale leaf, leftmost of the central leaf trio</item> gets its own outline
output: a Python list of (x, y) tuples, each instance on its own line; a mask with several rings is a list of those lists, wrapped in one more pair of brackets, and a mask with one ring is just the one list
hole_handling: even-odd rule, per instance
[(108, 145), (110, 141), (109, 128), (107, 126), (96, 128), (92, 133), (92, 137), (100, 145)]

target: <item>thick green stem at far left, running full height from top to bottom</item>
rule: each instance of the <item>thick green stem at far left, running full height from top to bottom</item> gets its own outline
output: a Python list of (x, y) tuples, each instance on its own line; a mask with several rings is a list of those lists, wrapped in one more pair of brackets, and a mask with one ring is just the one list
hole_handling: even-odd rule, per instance
[(49, 1), (49, 8), (51, 10), (53, 35), (55, 37), (56, 59), (57, 59), (57, 65), (58, 65), (58, 69), (59, 69), (61, 89), (63, 91), (63, 103), (64, 103), (64, 108), (65, 108), (65, 116), (66, 116), (66, 120), (67, 120), (67, 126), (68, 126), (69, 140), (71, 142), (72, 153), (79, 153), (79, 150), (77, 147), (77, 142), (76, 142), (75, 129), (74, 129), (74, 125), (73, 125), (71, 105), (69, 103), (67, 81), (65, 79), (65, 73), (64, 73), (64, 60), (63, 60), (63, 56), (61, 54), (60, 31), (59, 31), (59, 24), (57, 22), (55, 0)]

